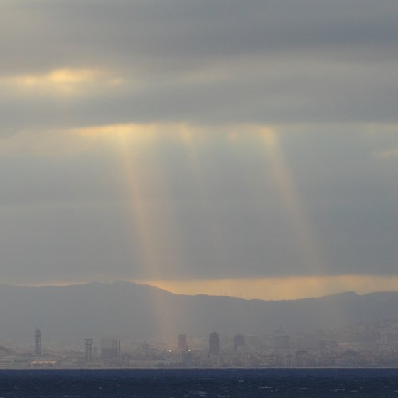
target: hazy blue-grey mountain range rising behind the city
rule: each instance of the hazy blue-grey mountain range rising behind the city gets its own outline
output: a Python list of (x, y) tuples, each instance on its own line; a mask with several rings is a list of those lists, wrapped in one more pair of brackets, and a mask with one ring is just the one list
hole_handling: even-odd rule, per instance
[(300, 300), (244, 300), (186, 296), (129, 282), (70, 286), (0, 284), (0, 341), (87, 337), (151, 338), (161, 335), (245, 333), (262, 335), (283, 326), (286, 333), (333, 330), (357, 322), (398, 318), (398, 293), (354, 292)]

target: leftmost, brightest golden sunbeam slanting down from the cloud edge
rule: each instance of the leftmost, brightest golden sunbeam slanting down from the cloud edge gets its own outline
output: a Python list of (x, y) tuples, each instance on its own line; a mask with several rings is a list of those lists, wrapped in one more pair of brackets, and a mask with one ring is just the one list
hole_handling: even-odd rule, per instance
[[(177, 261), (178, 248), (171, 239), (173, 222), (165, 205), (168, 194), (162, 165), (156, 163), (158, 159), (154, 156), (149, 160), (141, 159), (146, 156), (147, 149), (158, 144), (159, 127), (134, 124), (93, 127), (84, 129), (82, 134), (99, 136), (116, 145), (124, 190), (129, 198), (127, 211), (131, 220), (131, 237), (136, 236), (139, 240), (138, 244), (131, 244), (131, 247), (139, 249), (140, 264), (134, 266), (140, 265), (142, 273), (149, 279), (160, 278), (165, 272), (165, 262), (173, 258)], [(159, 196), (151, 198), (151, 191)], [(133, 253), (130, 256), (136, 258)], [(156, 294), (153, 299), (159, 331), (168, 335), (174, 322), (168, 303), (158, 300)]]

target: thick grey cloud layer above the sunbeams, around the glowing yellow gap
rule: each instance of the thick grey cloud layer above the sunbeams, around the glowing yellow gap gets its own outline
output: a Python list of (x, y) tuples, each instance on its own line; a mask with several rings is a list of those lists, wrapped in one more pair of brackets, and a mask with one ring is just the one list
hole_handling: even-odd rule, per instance
[(3, 123), (392, 122), (397, 36), (387, 0), (6, 3), (4, 78), (97, 68), (123, 84), (2, 90)]

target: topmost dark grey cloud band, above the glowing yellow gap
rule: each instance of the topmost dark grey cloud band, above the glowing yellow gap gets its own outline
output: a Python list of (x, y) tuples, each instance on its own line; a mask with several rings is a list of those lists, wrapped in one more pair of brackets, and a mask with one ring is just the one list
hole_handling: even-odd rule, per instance
[(341, 55), (354, 59), (397, 46), (398, 6), (387, 0), (18, 1), (4, 8), (6, 64), (14, 67), (16, 55), (29, 54), (33, 69), (42, 70), (49, 62), (90, 63), (91, 57), (122, 68), (127, 60), (131, 66), (160, 61), (154, 70), (168, 61), (193, 67), (306, 48), (318, 54), (346, 48)]

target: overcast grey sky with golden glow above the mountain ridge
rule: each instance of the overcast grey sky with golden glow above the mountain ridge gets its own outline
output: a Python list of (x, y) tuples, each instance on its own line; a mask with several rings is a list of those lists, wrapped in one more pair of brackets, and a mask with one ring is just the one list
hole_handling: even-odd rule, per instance
[(2, 0), (1, 283), (398, 290), (396, 0)]

